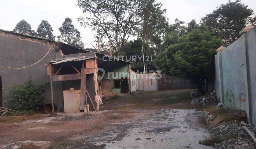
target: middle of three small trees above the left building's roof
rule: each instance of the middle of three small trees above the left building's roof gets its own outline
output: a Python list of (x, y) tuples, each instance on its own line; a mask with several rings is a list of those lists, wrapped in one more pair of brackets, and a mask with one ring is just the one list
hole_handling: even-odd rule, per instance
[(53, 35), (53, 29), (50, 23), (46, 20), (42, 20), (37, 28), (37, 36), (41, 38), (46, 38), (50, 40), (55, 40)]

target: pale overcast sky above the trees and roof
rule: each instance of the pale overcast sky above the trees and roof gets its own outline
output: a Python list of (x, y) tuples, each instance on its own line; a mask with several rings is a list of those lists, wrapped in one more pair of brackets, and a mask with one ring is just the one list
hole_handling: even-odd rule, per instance
[[(235, 0), (231, 0), (235, 1)], [(166, 9), (165, 17), (172, 24), (175, 18), (185, 23), (195, 19), (197, 23), (206, 14), (212, 12), (228, 0), (156, 0)], [(256, 12), (255, 0), (241, 0)], [(0, 29), (12, 31), (20, 20), (26, 20), (36, 30), (41, 20), (47, 20), (54, 30), (54, 35), (59, 35), (58, 28), (66, 17), (73, 20), (76, 29), (81, 32), (85, 48), (92, 48), (94, 32), (89, 27), (80, 26), (77, 18), (85, 16), (77, 6), (76, 0), (0, 0)], [(134, 37), (133, 37), (134, 38)], [(132, 38), (131, 38), (132, 39)]]

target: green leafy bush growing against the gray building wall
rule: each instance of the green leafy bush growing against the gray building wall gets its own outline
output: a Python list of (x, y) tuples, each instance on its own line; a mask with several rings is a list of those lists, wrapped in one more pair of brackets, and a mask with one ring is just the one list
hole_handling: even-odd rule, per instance
[(15, 84), (9, 91), (9, 107), (23, 111), (25, 113), (32, 113), (43, 105), (44, 96), (42, 92), (45, 90), (46, 84), (34, 84), (29, 78), (23, 84)]

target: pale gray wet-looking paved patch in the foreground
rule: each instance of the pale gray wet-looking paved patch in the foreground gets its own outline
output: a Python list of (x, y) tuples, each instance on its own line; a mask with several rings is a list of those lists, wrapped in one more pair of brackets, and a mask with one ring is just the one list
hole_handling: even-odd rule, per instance
[(213, 148), (198, 143), (209, 136), (203, 118), (196, 110), (158, 110), (142, 120), (112, 123), (112, 131), (85, 135), (71, 148)]

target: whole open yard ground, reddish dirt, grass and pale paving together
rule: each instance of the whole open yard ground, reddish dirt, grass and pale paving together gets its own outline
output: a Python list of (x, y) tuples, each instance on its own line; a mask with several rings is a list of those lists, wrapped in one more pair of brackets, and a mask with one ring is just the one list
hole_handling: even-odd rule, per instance
[[(1, 148), (210, 148), (203, 107), (190, 90), (124, 94), (85, 116), (58, 113), (14, 122), (0, 118)], [(197, 109), (197, 110), (195, 110)], [(9, 120), (10, 119), (10, 120)]]

